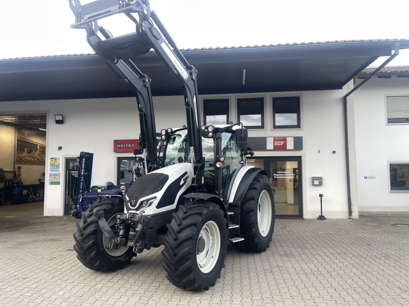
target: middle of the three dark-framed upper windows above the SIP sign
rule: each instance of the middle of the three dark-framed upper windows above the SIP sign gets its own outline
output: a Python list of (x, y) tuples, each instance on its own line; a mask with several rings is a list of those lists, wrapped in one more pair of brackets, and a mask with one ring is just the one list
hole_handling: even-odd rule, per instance
[(237, 121), (247, 129), (264, 129), (264, 98), (237, 99)]

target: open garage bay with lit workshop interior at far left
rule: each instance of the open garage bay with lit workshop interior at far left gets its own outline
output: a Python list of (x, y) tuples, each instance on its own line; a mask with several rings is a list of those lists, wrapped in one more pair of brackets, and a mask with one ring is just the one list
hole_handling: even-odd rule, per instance
[(47, 114), (0, 114), (1, 216), (32, 209), (43, 214), (46, 137)]

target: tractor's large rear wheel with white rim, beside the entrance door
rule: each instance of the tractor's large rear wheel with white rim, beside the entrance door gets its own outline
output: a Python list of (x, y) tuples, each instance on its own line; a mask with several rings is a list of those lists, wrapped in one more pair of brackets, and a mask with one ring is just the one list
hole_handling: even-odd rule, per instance
[(265, 251), (274, 233), (275, 214), (270, 180), (258, 174), (241, 202), (240, 234), (244, 240), (234, 245), (248, 252)]

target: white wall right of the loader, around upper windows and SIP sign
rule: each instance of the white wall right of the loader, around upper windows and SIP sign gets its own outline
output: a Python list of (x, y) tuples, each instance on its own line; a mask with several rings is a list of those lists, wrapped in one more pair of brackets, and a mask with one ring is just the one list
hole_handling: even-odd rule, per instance
[[(343, 96), (347, 89), (350, 85), (343, 90), (206, 95), (201, 96), (201, 100), (230, 98), (230, 120), (237, 121), (237, 98), (264, 97), (264, 129), (249, 130), (249, 137), (301, 136), (303, 150), (256, 151), (255, 157), (302, 157), (304, 218), (321, 214), (320, 193), (324, 194), (323, 210), (327, 218), (348, 218), (343, 121)], [(301, 97), (301, 129), (272, 129), (272, 97), (276, 96)], [(323, 186), (312, 186), (312, 176), (323, 176)], [(357, 210), (354, 216), (357, 217)]]

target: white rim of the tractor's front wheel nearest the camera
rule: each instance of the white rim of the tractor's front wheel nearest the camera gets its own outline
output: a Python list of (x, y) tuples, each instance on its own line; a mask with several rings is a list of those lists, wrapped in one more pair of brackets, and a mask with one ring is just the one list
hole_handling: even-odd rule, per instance
[[(204, 249), (200, 251), (200, 248)], [(201, 246), (199, 246), (199, 242)], [(203, 225), (196, 243), (197, 265), (203, 273), (212, 271), (217, 263), (220, 253), (220, 231), (214, 221), (209, 221)]]

